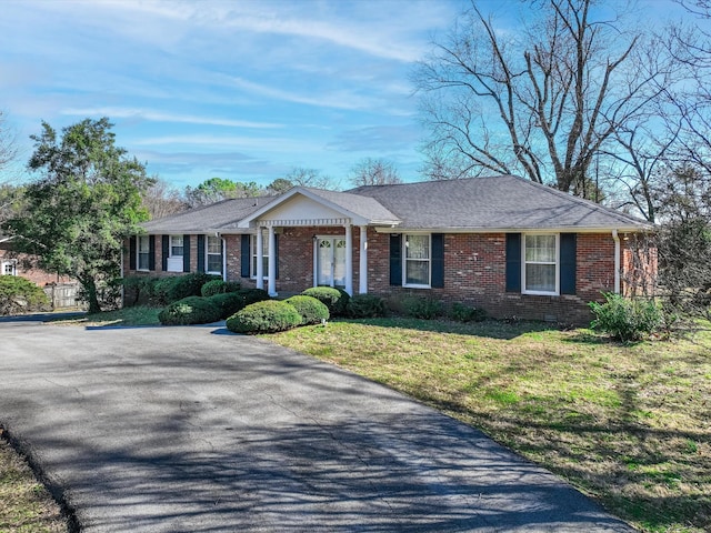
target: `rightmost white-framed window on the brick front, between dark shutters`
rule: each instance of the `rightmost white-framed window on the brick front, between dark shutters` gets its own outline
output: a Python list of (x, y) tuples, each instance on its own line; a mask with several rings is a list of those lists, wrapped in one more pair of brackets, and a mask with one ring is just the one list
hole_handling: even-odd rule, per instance
[(524, 235), (522, 266), (524, 293), (558, 294), (558, 235)]

